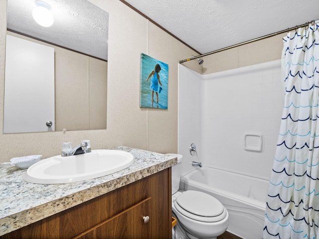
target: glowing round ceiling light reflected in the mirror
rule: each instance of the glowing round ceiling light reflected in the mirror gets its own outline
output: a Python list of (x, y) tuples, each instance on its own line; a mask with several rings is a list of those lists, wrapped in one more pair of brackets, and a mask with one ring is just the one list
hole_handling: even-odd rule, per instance
[(54, 21), (51, 6), (40, 0), (36, 0), (34, 3), (36, 7), (32, 10), (33, 19), (41, 26), (51, 26)]

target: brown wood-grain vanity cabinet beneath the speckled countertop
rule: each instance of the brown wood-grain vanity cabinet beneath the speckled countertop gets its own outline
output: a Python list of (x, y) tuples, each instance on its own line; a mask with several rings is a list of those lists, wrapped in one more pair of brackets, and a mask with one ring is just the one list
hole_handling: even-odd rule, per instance
[(171, 168), (0, 237), (14, 238), (169, 239)]

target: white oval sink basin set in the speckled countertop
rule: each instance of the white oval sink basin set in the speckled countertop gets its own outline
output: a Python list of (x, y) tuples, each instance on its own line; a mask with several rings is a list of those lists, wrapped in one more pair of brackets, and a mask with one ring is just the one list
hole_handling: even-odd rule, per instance
[(90, 153), (40, 160), (27, 169), (23, 179), (38, 184), (72, 183), (112, 174), (133, 163), (134, 156), (125, 151), (92, 150)]

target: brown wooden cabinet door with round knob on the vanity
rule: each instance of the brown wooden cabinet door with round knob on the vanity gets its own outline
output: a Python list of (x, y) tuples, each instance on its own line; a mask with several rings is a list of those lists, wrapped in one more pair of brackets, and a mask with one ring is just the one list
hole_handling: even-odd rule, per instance
[[(150, 219), (149, 222), (144, 220), (147, 216)], [(74, 239), (150, 239), (152, 238), (152, 217), (152, 198), (150, 197)]]

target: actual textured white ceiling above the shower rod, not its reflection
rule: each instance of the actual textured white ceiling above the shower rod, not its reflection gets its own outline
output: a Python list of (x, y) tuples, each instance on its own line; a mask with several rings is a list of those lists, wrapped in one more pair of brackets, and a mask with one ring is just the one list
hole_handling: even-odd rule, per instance
[(318, 0), (125, 0), (204, 54), (319, 19)]

